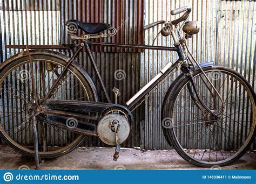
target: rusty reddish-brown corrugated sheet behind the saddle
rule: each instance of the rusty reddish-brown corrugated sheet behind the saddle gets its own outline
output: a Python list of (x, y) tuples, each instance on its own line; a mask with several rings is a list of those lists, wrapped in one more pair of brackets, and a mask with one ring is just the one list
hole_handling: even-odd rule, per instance
[[(62, 25), (71, 18), (89, 23), (107, 23), (117, 29), (116, 36), (95, 41), (112, 43), (143, 44), (143, 10), (144, 1), (128, 0), (79, 0), (60, 1)], [(66, 29), (62, 27), (62, 38), (66, 37)], [(68, 40), (66, 40), (68, 41)], [(136, 49), (93, 47), (96, 52), (137, 52)]]

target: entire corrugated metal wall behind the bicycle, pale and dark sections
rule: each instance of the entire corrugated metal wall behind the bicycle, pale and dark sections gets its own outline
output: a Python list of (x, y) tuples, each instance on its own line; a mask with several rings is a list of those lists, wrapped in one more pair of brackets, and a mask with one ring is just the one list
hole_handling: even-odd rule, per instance
[[(123, 32), (119, 38), (115, 38), (118, 39), (115, 41), (141, 43), (138, 36), (142, 36), (143, 33), (137, 33), (139, 32), (138, 27), (142, 26), (141, 23), (143, 23), (142, 16), (139, 14), (140, 16), (137, 16), (136, 19), (134, 15), (137, 8), (143, 8), (143, 1), (122, 1), (125, 8), (120, 11), (123, 11), (121, 14), (125, 21), (120, 21), (117, 17), (116, 19), (113, 18), (113, 2), (117, 3), (117, 1), (100, 1), (100, 5), (106, 7), (102, 15), (99, 12), (88, 14), (88, 11), (83, 7), (93, 6), (93, 3), (87, 2), (90, 2), (89, 5), (86, 5), (84, 1), (68, 0), (2, 1), (0, 10), (1, 62), (22, 51), (21, 49), (6, 49), (5, 44), (54, 45), (69, 43), (64, 23), (72, 18), (92, 22), (103, 20), (103, 22), (110, 24), (115, 22), (116, 26), (118, 23), (123, 23), (120, 27)], [(171, 10), (184, 5), (192, 6), (190, 20), (199, 20), (201, 24), (201, 31), (197, 36), (193, 36), (190, 42), (190, 48), (196, 58), (200, 62), (211, 60), (220, 65), (235, 66), (234, 68), (250, 81), (255, 90), (255, 35), (253, 34), (255, 2), (145, 0), (144, 24), (177, 18), (178, 16), (171, 16)], [(86, 15), (83, 15), (85, 11)], [(93, 15), (101, 18), (93, 19)], [(92, 17), (87, 18), (86, 16)], [(134, 25), (138, 26), (137, 30), (134, 29)], [(158, 26), (145, 31), (145, 44), (151, 45), (154, 36), (160, 29), (161, 27)], [(172, 46), (172, 40), (170, 37), (159, 37), (155, 45)], [(168, 51), (145, 51), (144, 53), (132, 52), (131, 49), (125, 50), (123, 53), (111, 53), (111, 49), (103, 51), (107, 52), (95, 52), (93, 54), (98, 61), (97, 64), (107, 91), (111, 94), (112, 102), (114, 98), (112, 88), (115, 86), (122, 93), (120, 96), (122, 104), (149, 82), (167, 62), (177, 60), (176, 53)], [(71, 54), (69, 52), (63, 53)], [(80, 53), (78, 62), (88, 69), (95, 79), (90, 63), (87, 61), (86, 53)], [(114, 80), (114, 71), (117, 69), (122, 69), (126, 73), (124, 80)], [(160, 111), (164, 94), (177, 75), (178, 73), (170, 75), (157, 89), (154, 89), (154, 93), (146, 100), (145, 115), (144, 109), (137, 110), (136, 125), (131, 138), (126, 141), (124, 146), (140, 145), (147, 149), (171, 148), (167, 145), (161, 130)], [(84, 145), (103, 146), (96, 138), (87, 139)], [(254, 149), (255, 147), (254, 143)]]

